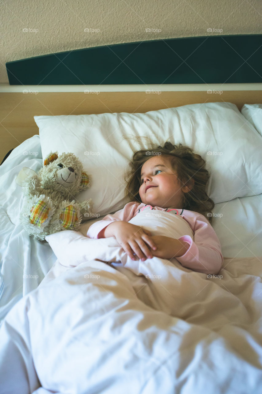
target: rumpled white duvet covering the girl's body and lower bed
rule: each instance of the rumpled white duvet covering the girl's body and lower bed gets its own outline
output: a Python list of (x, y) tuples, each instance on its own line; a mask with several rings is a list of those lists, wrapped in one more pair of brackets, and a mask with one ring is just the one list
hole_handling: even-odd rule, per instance
[(175, 259), (129, 260), (113, 237), (46, 238), (60, 263), (2, 324), (3, 393), (262, 392), (259, 258), (225, 258), (208, 277)]

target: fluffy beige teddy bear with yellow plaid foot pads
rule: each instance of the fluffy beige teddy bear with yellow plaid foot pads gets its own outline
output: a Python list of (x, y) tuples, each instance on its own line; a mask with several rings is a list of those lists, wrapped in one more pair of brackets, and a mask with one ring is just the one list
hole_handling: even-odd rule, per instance
[(92, 199), (79, 203), (74, 195), (89, 188), (90, 180), (73, 153), (50, 152), (38, 173), (30, 170), (20, 183), (24, 192), (20, 223), (28, 234), (44, 240), (61, 230), (77, 231), (83, 216), (91, 212)]

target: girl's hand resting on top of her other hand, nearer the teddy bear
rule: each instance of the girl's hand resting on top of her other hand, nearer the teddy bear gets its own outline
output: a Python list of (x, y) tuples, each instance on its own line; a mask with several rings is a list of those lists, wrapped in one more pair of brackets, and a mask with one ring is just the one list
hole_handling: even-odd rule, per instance
[(108, 225), (105, 237), (108, 236), (114, 236), (132, 260), (136, 260), (134, 253), (141, 260), (152, 258), (151, 249), (156, 249), (150, 231), (125, 221), (114, 221)]

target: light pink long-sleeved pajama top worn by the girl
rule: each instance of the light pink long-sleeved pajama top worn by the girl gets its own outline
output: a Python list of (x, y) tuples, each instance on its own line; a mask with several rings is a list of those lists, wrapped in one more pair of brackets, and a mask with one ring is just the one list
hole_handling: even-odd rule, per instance
[(159, 206), (152, 207), (144, 203), (131, 202), (127, 203), (123, 209), (116, 213), (106, 215), (102, 220), (93, 223), (89, 227), (87, 236), (89, 238), (100, 238), (100, 231), (110, 223), (120, 220), (128, 222), (145, 206), (147, 206), (147, 209), (150, 207), (150, 209), (168, 211), (180, 215), (191, 227), (194, 233), (194, 241), (189, 235), (178, 238), (189, 245), (184, 255), (176, 257), (177, 261), (179, 261), (182, 266), (206, 274), (216, 274), (220, 271), (223, 263), (223, 256), (221, 254), (221, 246), (218, 237), (205, 216), (194, 211), (160, 208)]

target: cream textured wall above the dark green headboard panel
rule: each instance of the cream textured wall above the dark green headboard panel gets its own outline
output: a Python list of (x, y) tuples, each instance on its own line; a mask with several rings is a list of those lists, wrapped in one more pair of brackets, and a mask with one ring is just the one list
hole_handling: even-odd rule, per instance
[(7, 61), (32, 56), (151, 39), (262, 33), (261, 0), (3, 0), (0, 15), (0, 83), (8, 82)]

